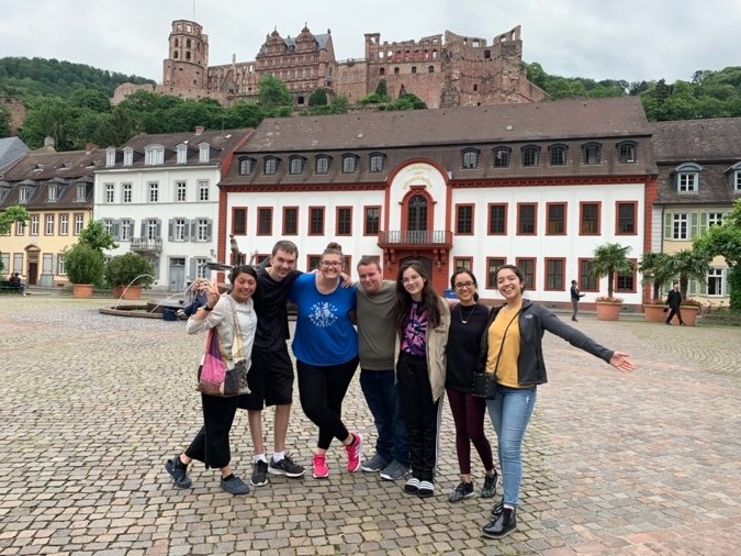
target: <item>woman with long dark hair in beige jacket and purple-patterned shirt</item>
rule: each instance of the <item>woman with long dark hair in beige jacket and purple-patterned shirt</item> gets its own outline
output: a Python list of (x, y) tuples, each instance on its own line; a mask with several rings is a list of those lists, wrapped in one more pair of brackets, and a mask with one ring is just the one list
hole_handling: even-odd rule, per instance
[(418, 260), (398, 268), (394, 321), (396, 379), (412, 463), (404, 492), (427, 498), (435, 494), (450, 309)]

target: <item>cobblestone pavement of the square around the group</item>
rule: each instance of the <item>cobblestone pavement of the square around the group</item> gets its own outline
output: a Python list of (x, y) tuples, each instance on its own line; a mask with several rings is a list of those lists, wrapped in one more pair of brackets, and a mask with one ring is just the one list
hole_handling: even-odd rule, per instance
[[(328, 480), (271, 477), (232, 497), (217, 471), (194, 465), (194, 488), (175, 489), (162, 464), (199, 427), (193, 383), (204, 336), (188, 336), (183, 322), (100, 314), (105, 304), (113, 302), (0, 297), (3, 555), (741, 551), (739, 329), (584, 315), (582, 330), (635, 357), (632, 375), (547, 335), (550, 383), (539, 389), (525, 442), (519, 529), (491, 541), (480, 536), (491, 500), (447, 501), (458, 482), (447, 407), (437, 491), (425, 501), (404, 496), (401, 482), (343, 470), (336, 445)], [(345, 418), (372, 455), (357, 378)], [(271, 422), (267, 414), (268, 447)], [(289, 436), (308, 466), (315, 429), (297, 400)], [(243, 412), (233, 443), (246, 478)], [(473, 474), (481, 486), (475, 456)]]

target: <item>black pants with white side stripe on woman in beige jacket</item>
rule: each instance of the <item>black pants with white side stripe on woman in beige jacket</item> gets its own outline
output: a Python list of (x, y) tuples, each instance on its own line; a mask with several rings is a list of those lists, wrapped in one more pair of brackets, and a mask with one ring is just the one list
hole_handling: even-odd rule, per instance
[(431, 482), (437, 466), (440, 400), (433, 401), (426, 358), (400, 354), (396, 377), (406, 420), (412, 476)]

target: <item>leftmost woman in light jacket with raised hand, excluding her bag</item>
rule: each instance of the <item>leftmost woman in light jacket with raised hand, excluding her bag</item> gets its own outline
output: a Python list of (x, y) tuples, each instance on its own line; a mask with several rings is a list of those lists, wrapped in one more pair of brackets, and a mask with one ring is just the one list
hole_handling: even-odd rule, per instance
[[(229, 275), (232, 292), (218, 294), (218, 286), (213, 281), (207, 290), (207, 301), (193, 314), (187, 323), (188, 334), (197, 334), (216, 329), (220, 349), (228, 354), (229, 359), (244, 357), (247, 370), (250, 357), (257, 316), (252, 302), (252, 293), (257, 288), (257, 273), (250, 266), (237, 266)], [(237, 335), (242, 340), (244, 351), (233, 353)], [(249, 376), (249, 375), (248, 375)], [(229, 460), (229, 431), (237, 411), (239, 397), (220, 397), (201, 393), (203, 408), (203, 426), (188, 448), (165, 463), (165, 469), (177, 488), (187, 489), (192, 485), (188, 476), (188, 466), (193, 459), (203, 462), (207, 468), (217, 468), (222, 472), (221, 488), (232, 494), (246, 494), (249, 487), (232, 472)]]

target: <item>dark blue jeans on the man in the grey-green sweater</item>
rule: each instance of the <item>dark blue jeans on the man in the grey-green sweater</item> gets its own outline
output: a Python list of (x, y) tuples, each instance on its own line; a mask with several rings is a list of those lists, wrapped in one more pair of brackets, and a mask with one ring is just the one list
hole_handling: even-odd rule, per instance
[(389, 463), (395, 459), (409, 465), (402, 397), (395, 381), (396, 374), (393, 369), (360, 369), (360, 388), (379, 434), (375, 452)]

